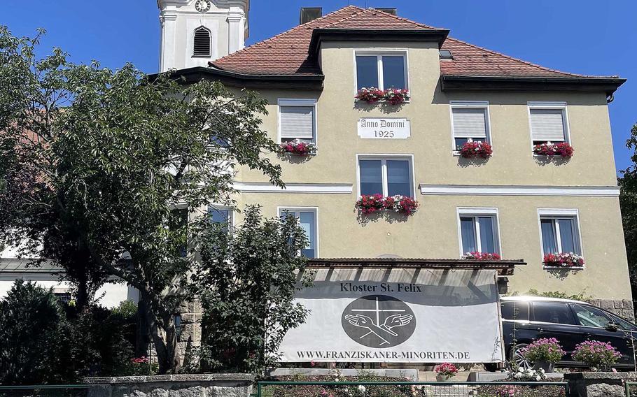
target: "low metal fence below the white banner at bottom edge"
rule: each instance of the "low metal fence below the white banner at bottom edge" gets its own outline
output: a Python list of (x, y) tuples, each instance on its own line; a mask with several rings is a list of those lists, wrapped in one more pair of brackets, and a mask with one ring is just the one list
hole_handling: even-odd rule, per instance
[[(258, 382), (256, 397), (564, 397), (566, 382)], [(635, 395), (637, 396), (637, 394)]]

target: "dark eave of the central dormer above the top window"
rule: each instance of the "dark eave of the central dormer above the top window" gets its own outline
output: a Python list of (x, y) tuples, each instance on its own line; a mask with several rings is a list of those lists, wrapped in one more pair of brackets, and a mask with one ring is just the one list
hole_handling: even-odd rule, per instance
[(449, 35), (448, 29), (314, 29), (309, 56), (316, 57), (321, 41), (434, 41), (438, 48)]

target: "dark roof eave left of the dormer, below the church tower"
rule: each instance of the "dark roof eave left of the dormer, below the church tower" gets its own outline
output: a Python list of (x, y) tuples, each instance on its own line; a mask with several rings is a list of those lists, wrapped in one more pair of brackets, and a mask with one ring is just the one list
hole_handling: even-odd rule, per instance
[[(150, 75), (151, 80), (158, 74)], [(171, 77), (183, 84), (193, 84), (200, 80), (221, 81), (225, 85), (239, 88), (295, 88), (322, 89), (324, 75), (259, 75), (226, 71), (216, 67), (195, 66), (172, 71)]]

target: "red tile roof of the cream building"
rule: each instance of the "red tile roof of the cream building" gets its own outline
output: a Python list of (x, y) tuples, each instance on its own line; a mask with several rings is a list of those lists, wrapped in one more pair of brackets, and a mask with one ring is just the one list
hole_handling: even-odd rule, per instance
[[(373, 8), (346, 6), (316, 20), (299, 25), (272, 38), (260, 41), (210, 62), (225, 71), (248, 75), (316, 75), (321, 70), (309, 57), (309, 44), (314, 29), (438, 29), (407, 20)], [(598, 77), (566, 73), (522, 61), (499, 52), (447, 38), (443, 50), (451, 51), (454, 59), (440, 61), (442, 75), (502, 76), (502, 77)]]

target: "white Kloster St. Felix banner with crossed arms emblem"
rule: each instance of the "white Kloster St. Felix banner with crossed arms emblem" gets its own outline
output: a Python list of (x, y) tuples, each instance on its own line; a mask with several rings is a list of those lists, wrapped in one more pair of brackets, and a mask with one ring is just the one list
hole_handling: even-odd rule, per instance
[(283, 362), (503, 361), (495, 270), (318, 270)]

